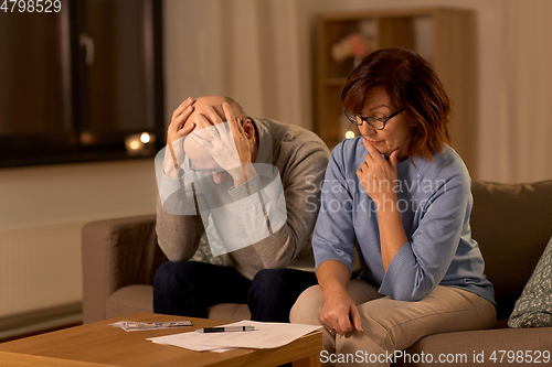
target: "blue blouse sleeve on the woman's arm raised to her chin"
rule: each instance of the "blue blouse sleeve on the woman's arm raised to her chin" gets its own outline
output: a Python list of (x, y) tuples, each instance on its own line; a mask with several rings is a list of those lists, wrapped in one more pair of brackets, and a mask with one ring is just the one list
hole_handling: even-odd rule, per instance
[(427, 296), (445, 277), (464, 229), (469, 226), (469, 176), (454, 175), (427, 198), (415, 230), (391, 261), (380, 293), (400, 301)]

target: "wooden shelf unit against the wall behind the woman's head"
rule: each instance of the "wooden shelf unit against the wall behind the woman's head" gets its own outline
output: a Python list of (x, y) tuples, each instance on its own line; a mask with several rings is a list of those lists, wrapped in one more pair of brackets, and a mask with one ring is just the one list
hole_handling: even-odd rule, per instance
[(469, 10), (413, 8), (320, 14), (314, 61), (315, 131), (330, 148), (344, 139), (348, 129), (359, 133), (344, 119), (341, 108), (341, 88), (354, 68), (353, 58), (338, 63), (331, 57), (331, 47), (351, 33), (367, 35), (367, 29), (371, 31), (373, 50), (406, 47), (429, 61), (453, 101), (453, 145), (475, 172), (477, 40), (475, 13)]

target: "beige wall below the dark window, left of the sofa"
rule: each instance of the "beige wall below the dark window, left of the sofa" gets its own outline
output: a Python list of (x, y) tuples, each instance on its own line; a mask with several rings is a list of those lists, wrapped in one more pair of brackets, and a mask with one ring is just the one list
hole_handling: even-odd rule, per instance
[(0, 317), (82, 300), (84, 223), (155, 213), (153, 160), (0, 170)]

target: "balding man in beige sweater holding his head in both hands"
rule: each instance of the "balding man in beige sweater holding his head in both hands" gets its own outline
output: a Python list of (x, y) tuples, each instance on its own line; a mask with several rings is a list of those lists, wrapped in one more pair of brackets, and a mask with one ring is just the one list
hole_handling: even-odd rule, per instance
[[(247, 117), (229, 97), (184, 100), (156, 158), (170, 261), (156, 273), (153, 311), (206, 317), (214, 304), (247, 303), (252, 320), (289, 322), (317, 283), (310, 238), (328, 156), (314, 132)], [(205, 229), (224, 266), (189, 260)]]

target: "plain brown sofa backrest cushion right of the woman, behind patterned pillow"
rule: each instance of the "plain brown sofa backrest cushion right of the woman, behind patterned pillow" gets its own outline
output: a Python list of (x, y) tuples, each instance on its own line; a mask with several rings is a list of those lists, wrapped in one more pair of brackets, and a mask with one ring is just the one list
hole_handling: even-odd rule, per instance
[(508, 319), (550, 238), (552, 180), (532, 184), (474, 182), (471, 235), (495, 285), (497, 317)]

